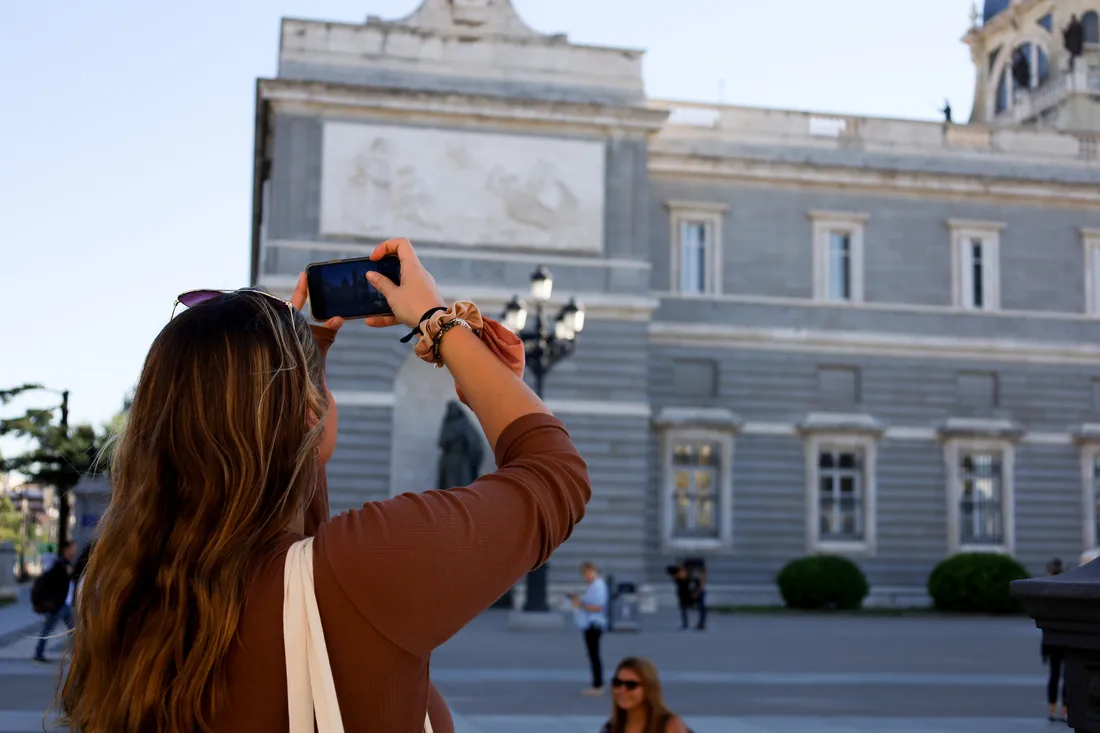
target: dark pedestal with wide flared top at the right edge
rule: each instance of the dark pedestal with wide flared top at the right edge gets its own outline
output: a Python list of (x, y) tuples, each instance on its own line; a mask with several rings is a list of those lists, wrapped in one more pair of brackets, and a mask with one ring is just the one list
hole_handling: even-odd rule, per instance
[(1012, 595), (1066, 660), (1069, 727), (1100, 733), (1100, 560), (1048, 578), (1016, 580)]

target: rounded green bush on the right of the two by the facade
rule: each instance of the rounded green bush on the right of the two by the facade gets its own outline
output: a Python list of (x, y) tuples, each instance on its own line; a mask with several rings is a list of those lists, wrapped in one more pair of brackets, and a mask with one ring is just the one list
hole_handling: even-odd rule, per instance
[(997, 553), (963, 553), (943, 560), (928, 576), (936, 609), (961, 613), (1019, 613), (1009, 583), (1030, 578), (1014, 558)]

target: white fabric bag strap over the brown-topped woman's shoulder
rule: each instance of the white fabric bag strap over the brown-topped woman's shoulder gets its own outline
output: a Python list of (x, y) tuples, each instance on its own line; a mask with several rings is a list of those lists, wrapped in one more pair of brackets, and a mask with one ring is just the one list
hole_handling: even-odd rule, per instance
[[(296, 541), (283, 570), (283, 644), (286, 647), (286, 693), (290, 733), (343, 733), (340, 703), (332, 681), (324, 628), (314, 591), (314, 538)], [(424, 715), (425, 733), (433, 733)]]

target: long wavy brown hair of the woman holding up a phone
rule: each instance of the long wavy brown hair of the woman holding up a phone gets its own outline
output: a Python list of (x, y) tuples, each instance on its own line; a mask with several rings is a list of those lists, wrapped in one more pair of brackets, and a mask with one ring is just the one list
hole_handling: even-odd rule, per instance
[(273, 297), (219, 296), (164, 327), (113, 451), (63, 723), (211, 730), (251, 572), (316, 491), (323, 380), (305, 317)]

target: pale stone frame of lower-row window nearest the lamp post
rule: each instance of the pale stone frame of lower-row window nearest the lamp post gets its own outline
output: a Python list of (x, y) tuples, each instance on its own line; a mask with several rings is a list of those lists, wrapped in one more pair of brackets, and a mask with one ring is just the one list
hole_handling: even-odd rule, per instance
[[(703, 412), (703, 411), (693, 411)], [(722, 411), (726, 412), (726, 411)], [(664, 551), (722, 550), (733, 547), (734, 539), (734, 447), (739, 420), (728, 424), (710, 420), (667, 420), (659, 424), (661, 447), (661, 470), (659, 473), (659, 511), (661, 547)], [(717, 537), (675, 537), (672, 497), (675, 493), (673, 481), (673, 447), (678, 442), (714, 442), (718, 445), (719, 467), (717, 482)]]

